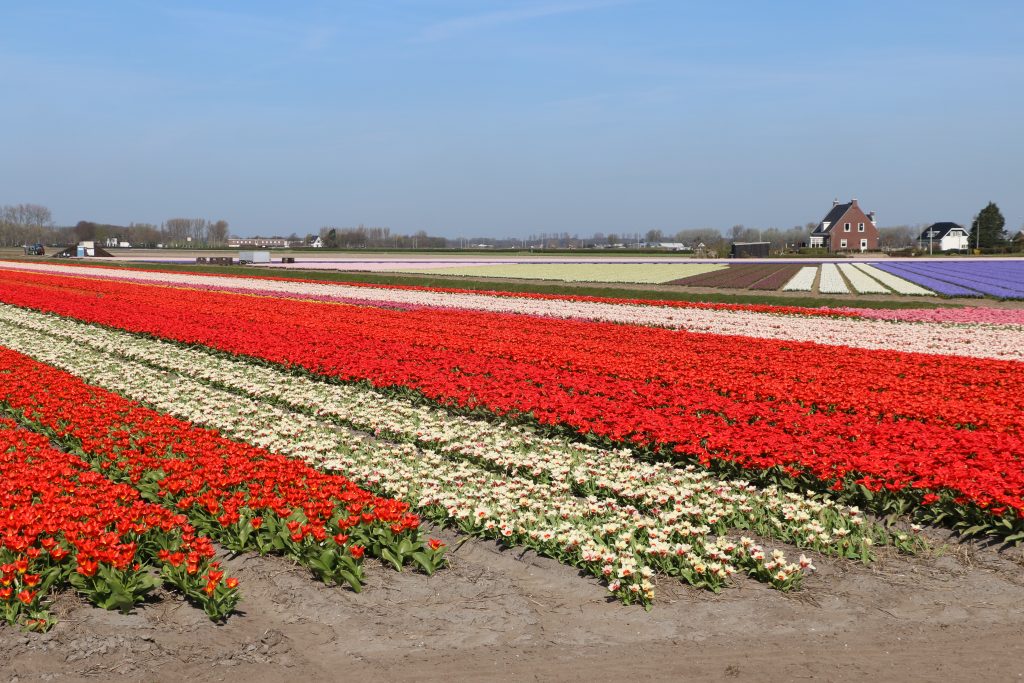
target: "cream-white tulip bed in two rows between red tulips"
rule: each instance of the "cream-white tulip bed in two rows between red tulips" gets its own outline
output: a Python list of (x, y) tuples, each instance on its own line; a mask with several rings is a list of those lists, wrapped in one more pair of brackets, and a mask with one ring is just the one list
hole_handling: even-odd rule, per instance
[[(862, 559), (868, 557), (871, 543), (912, 543), (865, 524), (855, 511), (775, 488), (759, 492), (692, 467), (643, 465), (629, 453), (456, 418), (366, 387), (313, 382), (72, 322), (44, 323), (36, 327), (46, 329), (45, 334), (16, 328), (3, 334), (40, 359), (161, 410), (340, 467), (463, 531), (520, 543), (577, 564), (606, 579), (628, 602), (653, 597), (645, 571), (667, 572), (712, 589), (739, 569), (778, 588), (799, 582), (800, 573), (793, 573), (792, 567), (778, 575), (780, 567), (790, 567), (780, 555), (771, 555), (772, 560), (723, 555), (720, 542), (734, 550), (750, 546), (742, 538), (722, 538), (732, 527)], [(89, 347), (103, 350), (89, 352)], [(169, 375), (174, 369), (177, 375)], [(188, 369), (187, 374), (181, 369)], [(368, 442), (358, 434), (339, 432), (332, 422), (400, 443)], [(707, 538), (712, 532), (719, 540)], [(685, 549), (670, 561), (663, 556), (670, 547)], [(600, 561), (594, 560), (597, 557)], [(697, 570), (701, 566), (724, 573), (709, 575)], [(634, 581), (622, 581), (618, 573), (627, 569)]]

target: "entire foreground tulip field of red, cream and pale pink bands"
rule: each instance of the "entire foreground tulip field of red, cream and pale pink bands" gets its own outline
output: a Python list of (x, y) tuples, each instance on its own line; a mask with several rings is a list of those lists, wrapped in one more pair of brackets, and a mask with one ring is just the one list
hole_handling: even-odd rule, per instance
[(0, 262), (0, 613), (46, 631), (54, 591), (127, 612), (160, 587), (234, 618), (223, 551), (442, 581), (441, 528), (648, 609), (666, 582), (808, 590), (925, 525), (1012, 546), (1022, 362), (1019, 309)]

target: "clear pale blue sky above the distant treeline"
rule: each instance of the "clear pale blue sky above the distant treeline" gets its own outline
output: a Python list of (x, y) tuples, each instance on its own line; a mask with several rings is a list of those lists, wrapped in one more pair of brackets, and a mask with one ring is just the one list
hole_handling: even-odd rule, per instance
[(231, 231), (1024, 223), (1024, 3), (0, 4), (0, 204)]

